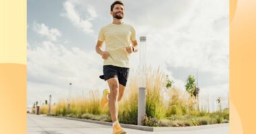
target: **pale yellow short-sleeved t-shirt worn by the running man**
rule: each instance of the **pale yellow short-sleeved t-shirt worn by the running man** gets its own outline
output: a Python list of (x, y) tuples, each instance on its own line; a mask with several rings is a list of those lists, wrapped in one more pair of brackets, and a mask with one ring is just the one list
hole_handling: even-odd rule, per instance
[(110, 23), (100, 29), (98, 40), (105, 42), (106, 52), (108, 52), (104, 65), (129, 68), (129, 53), (125, 47), (130, 46), (131, 41), (136, 40), (133, 26), (126, 23)]

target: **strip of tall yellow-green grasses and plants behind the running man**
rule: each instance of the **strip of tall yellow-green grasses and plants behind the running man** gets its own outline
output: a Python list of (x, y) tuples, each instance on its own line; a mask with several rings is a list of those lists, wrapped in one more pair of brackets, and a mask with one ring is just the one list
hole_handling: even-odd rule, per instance
[[(146, 116), (141, 123), (143, 125), (159, 127), (185, 127), (193, 125), (208, 125), (214, 123), (228, 123), (228, 109), (216, 113), (200, 111), (195, 107), (197, 97), (195, 93), (195, 78), (187, 79), (187, 92), (172, 87), (172, 81), (159, 70), (148, 72), (146, 83)], [(137, 125), (138, 110), (138, 83), (137, 77), (133, 77), (125, 90), (125, 95), (119, 102), (119, 122)], [(167, 84), (166, 84), (167, 82)], [(166, 89), (170, 88), (170, 89)], [(53, 106), (55, 115), (76, 117), (80, 119), (92, 119), (97, 121), (111, 121), (108, 107), (100, 107), (98, 92), (90, 92), (83, 98), (75, 98), (71, 101), (71, 109), (67, 112), (67, 102), (62, 100)], [(36, 103), (34, 103), (36, 105)]]

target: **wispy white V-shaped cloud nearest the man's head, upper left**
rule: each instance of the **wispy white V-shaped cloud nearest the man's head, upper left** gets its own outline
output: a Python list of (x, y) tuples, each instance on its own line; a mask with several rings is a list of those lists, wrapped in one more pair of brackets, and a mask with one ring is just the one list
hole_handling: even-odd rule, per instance
[(67, 19), (69, 19), (73, 25), (75, 25), (75, 27), (82, 28), (82, 30), (87, 34), (93, 33), (94, 30), (92, 29), (93, 25), (91, 21), (97, 17), (94, 7), (88, 7), (88, 13), (90, 16), (83, 19), (82, 14), (75, 9), (75, 5), (72, 3), (72, 1), (65, 1), (63, 6), (65, 13), (62, 13), (62, 16), (67, 17)]

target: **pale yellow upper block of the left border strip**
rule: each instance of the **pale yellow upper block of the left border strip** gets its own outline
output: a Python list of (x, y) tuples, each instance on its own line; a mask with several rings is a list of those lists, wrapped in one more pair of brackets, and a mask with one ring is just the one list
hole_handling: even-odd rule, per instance
[(26, 64), (25, 0), (0, 1), (0, 63)]

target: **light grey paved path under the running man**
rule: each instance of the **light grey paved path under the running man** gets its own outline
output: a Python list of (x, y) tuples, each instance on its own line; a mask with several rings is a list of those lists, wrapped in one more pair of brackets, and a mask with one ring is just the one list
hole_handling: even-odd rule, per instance
[[(99, 125), (82, 121), (73, 121), (55, 117), (46, 117), (40, 115), (27, 115), (28, 134), (111, 134), (112, 128), (108, 125)], [(15, 128), (13, 128), (15, 129)], [(125, 129), (127, 134), (228, 134), (228, 125), (221, 127), (197, 129), (193, 131), (139, 131), (135, 129)]]

